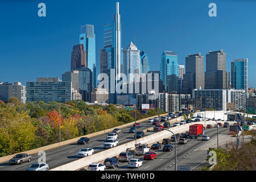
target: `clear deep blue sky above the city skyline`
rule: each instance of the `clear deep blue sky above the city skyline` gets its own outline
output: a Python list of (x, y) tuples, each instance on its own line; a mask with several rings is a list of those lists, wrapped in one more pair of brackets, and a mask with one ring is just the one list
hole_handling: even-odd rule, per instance
[[(38, 4), (46, 3), (46, 17)], [(79, 43), (80, 27), (94, 24), (97, 73), (103, 27), (112, 23), (114, 0), (2, 0), (0, 1), (0, 81), (35, 81), (60, 77), (70, 69), (72, 47)], [(217, 17), (208, 5), (217, 5)], [(256, 87), (256, 13), (254, 0), (121, 0), (122, 47), (133, 41), (147, 53), (151, 70), (159, 70), (164, 50), (175, 51), (178, 63), (188, 53), (224, 49), (226, 67), (233, 59), (248, 58), (249, 86)]]

